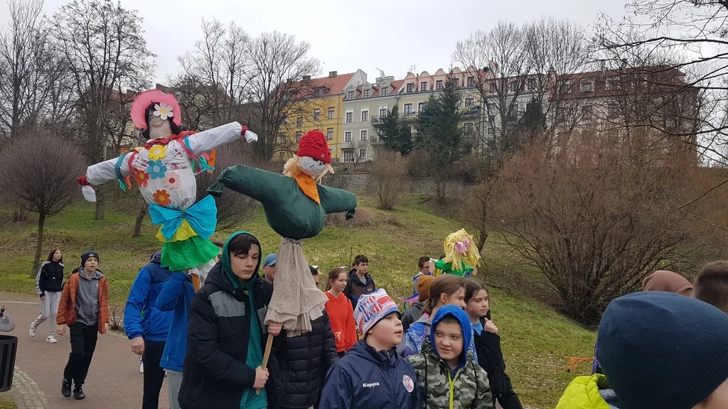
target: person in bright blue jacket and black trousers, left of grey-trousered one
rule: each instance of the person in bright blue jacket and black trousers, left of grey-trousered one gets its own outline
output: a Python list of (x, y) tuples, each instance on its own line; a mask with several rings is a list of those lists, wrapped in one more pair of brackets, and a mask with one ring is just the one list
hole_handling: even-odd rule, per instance
[(173, 272), (159, 264), (161, 259), (161, 251), (154, 253), (139, 271), (124, 308), (124, 331), (132, 341), (132, 352), (144, 359), (142, 409), (159, 407), (159, 390), (165, 380), (165, 370), (159, 366), (159, 361), (165, 350), (172, 313), (159, 311), (155, 303)]

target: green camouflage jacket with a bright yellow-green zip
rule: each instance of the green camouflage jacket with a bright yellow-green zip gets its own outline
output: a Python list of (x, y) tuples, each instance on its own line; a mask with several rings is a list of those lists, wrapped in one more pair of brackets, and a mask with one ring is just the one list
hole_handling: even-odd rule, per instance
[(405, 359), (417, 373), (424, 409), (494, 408), (488, 374), (473, 361), (472, 352), (467, 353), (467, 363), (455, 376), (429, 342), (422, 346), (422, 354)]

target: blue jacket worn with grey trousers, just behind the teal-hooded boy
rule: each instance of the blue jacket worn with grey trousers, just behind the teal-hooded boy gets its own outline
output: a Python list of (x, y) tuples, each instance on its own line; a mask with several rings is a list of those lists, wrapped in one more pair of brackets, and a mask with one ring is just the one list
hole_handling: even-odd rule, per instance
[(165, 352), (162, 353), (162, 360), (159, 362), (159, 366), (167, 370), (182, 372), (187, 353), (187, 324), (192, 297), (194, 297), (192, 280), (181, 272), (172, 274), (162, 293), (157, 297), (155, 307), (159, 311), (173, 311)]

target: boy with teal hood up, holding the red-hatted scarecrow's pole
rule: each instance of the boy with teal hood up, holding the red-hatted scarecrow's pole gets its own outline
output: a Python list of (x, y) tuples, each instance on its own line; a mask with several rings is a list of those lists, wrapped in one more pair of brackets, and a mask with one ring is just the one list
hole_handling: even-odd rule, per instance
[(273, 286), (258, 276), (260, 255), (256, 237), (232, 234), (221, 262), (192, 298), (181, 408), (276, 408), (273, 383), (266, 382), (269, 373), (261, 364), (265, 333), (278, 335), (282, 325), (263, 325)]

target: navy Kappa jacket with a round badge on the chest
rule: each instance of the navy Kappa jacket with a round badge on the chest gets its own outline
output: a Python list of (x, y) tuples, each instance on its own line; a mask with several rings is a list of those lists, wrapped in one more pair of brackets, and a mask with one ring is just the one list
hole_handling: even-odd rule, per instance
[(359, 341), (328, 371), (319, 409), (419, 409), (419, 396), (414, 369), (395, 349)]

